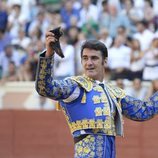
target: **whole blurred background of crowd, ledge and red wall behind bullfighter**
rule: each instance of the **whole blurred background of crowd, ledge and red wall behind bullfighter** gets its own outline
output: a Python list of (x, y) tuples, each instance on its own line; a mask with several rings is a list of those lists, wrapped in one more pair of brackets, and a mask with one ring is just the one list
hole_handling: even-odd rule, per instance
[[(59, 26), (55, 78), (82, 74), (80, 46), (98, 39), (109, 52), (105, 80), (144, 100), (158, 90), (158, 0), (0, 0), (0, 158), (73, 157), (63, 114), (34, 82), (45, 32)], [(156, 119), (125, 119), (118, 158), (158, 157)]]

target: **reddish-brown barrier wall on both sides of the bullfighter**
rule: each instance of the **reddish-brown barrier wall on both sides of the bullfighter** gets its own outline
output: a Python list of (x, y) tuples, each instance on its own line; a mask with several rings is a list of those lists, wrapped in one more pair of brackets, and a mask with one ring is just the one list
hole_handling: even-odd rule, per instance
[[(158, 157), (158, 117), (138, 123), (125, 119), (117, 138), (117, 158)], [(0, 158), (72, 158), (73, 140), (57, 111), (0, 111)]]

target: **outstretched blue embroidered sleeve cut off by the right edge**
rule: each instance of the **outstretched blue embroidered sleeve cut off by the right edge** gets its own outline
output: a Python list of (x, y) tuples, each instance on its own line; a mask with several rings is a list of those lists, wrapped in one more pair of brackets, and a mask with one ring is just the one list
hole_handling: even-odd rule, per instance
[(153, 94), (148, 101), (126, 96), (121, 100), (123, 115), (127, 118), (144, 121), (158, 114), (158, 92)]

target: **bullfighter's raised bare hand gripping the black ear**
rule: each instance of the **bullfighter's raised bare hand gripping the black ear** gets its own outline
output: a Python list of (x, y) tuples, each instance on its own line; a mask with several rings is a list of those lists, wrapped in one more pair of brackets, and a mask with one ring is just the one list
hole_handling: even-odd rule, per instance
[(47, 31), (45, 36), (45, 45), (46, 45), (46, 57), (51, 57), (54, 55), (54, 50), (52, 47), (52, 43), (56, 42), (54, 33)]

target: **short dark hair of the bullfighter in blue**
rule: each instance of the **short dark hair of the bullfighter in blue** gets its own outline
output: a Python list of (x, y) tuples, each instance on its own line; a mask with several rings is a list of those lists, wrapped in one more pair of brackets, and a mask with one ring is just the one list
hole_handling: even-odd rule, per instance
[(100, 42), (98, 40), (87, 40), (82, 44), (81, 47), (81, 57), (83, 54), (83, 50), (85, 48), (93, 49), (93, 50), (98, 50), (101, 51), (103, 59), (108, 57), (108, 50), (103, 42)]

